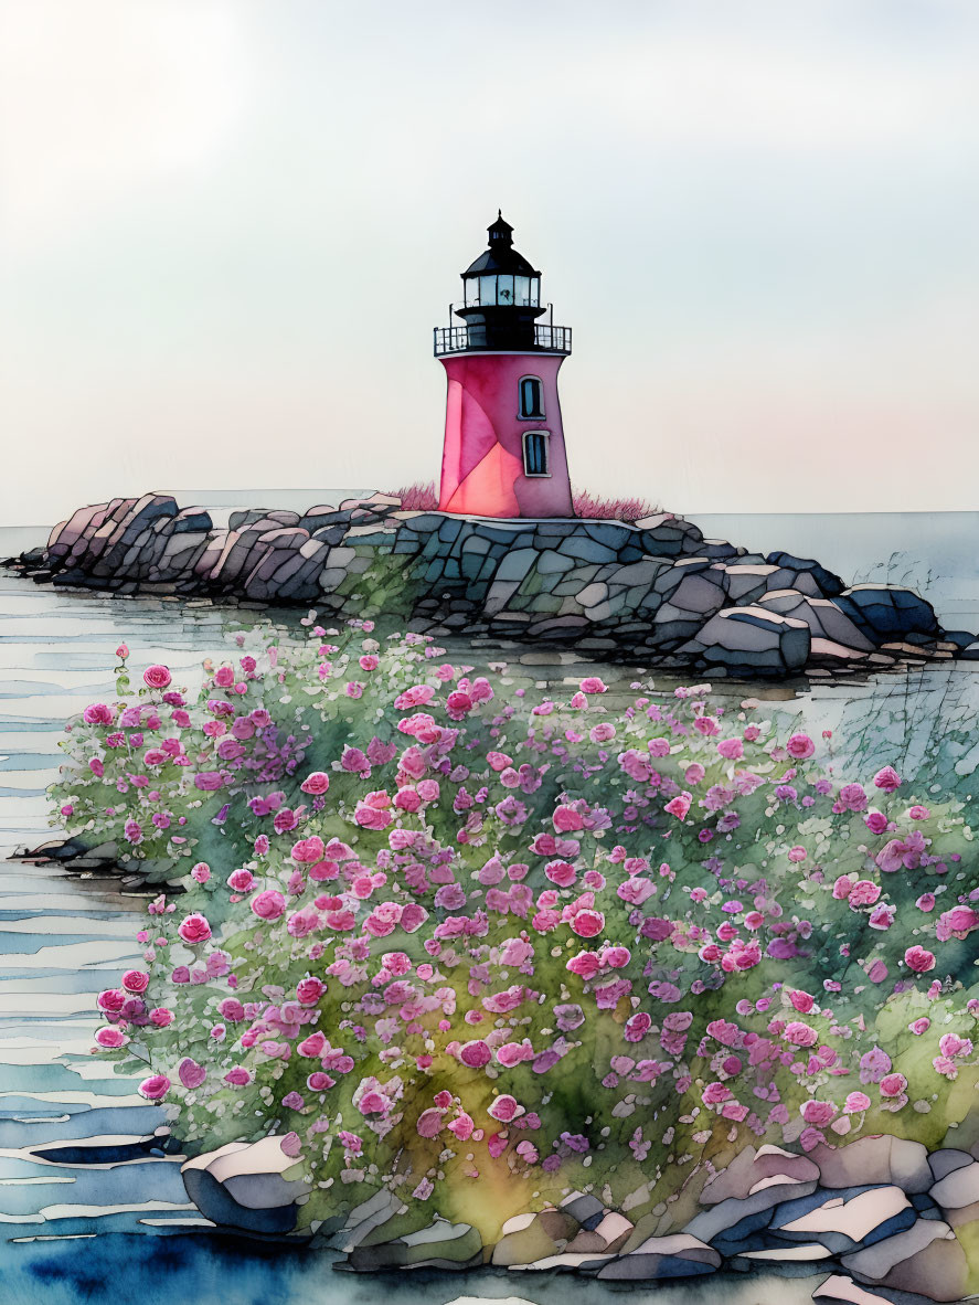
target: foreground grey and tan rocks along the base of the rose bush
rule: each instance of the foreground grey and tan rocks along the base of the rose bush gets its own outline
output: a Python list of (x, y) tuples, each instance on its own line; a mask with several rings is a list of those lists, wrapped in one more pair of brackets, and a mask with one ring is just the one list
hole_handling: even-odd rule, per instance
[(830, 1275), (813, 1292), (825, 1305), (911, 1305), (958, 1301), (979, 1271), (979, 1146), (928, 1152), (920, 1142), (873, 1134), (808, 1154), (745, 1147), (723, 1169), (707, 1165), (706, 1182), (702, 1169), (692, 1174), (688, 1186), (700, 1178), (700, 1190), (676, 1205), (634, 1218), (630, 1208), (647, 1205), (645, 1189), (624, 1210), (570, 1191), (556, 1207), (506, 1220), (484, 1245), (470, 1224), (437, 1214), (406, 1227), (407, 1207), (390, 1189), (296, 1237), (311, 1189), (286, 1176), (298, 1165), (283, 1141), (232, 1142), (188, 1160), (188, 1195), (223, 1228), (328, 1246), (347, 1257), (337, 1267), (356, 1272), (489, 1265), (664, 1283), (722, 1268), (808, 1266)]

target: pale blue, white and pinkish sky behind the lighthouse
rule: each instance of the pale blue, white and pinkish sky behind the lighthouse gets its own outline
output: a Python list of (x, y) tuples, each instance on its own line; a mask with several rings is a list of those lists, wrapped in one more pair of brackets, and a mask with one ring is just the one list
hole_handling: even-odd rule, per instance
[(974, 0), (0, 0), (0, 523), (437, 475), (497, 206), (573, 480), (979, 506)]

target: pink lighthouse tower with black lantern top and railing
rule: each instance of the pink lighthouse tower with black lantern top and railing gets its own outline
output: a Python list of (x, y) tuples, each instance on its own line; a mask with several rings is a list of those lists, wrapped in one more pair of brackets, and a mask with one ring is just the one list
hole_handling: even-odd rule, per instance
[[(539, 322), (540, 273), (497, 214), (487, 249), (462, 273), (463, 326), (435, 329), (445, 367), (441, 512), (570, 517), (557, 371), (570, 328)], [(452, 318), (450, 318), (452, 320)]]

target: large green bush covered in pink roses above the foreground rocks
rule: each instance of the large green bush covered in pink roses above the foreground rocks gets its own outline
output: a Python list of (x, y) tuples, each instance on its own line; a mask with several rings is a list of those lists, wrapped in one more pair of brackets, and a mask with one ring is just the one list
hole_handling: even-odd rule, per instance
[(572, 1189), (642, 1212), (732, 1144), (966, 1117), (961, 803), (834, 778), (707, 685), (542, 701), (355, 625), (193, 701), (150, 667), (70, 727), (69, 831), (185, 890), (95, 1034), (179, 1137), (285, 1134), (307, 1221), (386, 1186), (491, 1241)]

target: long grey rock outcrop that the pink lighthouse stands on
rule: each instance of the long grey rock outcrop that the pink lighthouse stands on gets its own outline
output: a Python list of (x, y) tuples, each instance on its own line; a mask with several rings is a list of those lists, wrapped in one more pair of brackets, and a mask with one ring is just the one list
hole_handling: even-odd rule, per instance
[(714, 679), (979, 659), (912, 590), (847, 587), (660, 513), (637, 522), (406, 512), (386, 495), (215, 525), (166, 495), (81, 508), (8, 565), (38, 583), (245, 607), (398, 615), (435, 636), (529, 641)]

